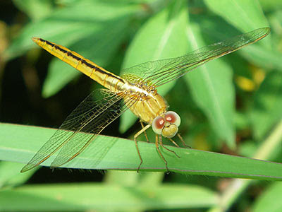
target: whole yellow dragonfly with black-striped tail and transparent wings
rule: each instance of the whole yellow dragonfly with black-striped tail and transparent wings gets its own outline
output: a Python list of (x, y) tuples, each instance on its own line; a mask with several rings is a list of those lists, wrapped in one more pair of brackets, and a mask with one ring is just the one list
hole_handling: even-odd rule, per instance
[[(44, 143), (21, 172), (37, 167), (57, 151), (59, 153), (51, 163), (51, 168), (68, 163), (84, 151), (106, 126), (114, 122), (128, 109), (140, 119), (142, 126), (142, 129), (134, 136), (137, 154), (140, 158), (137, 172), (143, 162), (137, 145), (137, 137), (144, 133), (148, 141), (146, 130), (150, 127), (156, 134), (157, 152), (164, 160), (166, 171), (168, 171), (168, 163), (160, 151), (160, 146), (168, 151), (171, 150), (163, 145), (162, 137), (169, 139), (176, 146), (178, 144), (172, 139), (174, 136), (178, 136), (183, 145), (185, 145), (185, 142), (178, 133), (179, 115), (176, 112), (167, 111), (166, 100), (159, 95), (157, 88), (180, 78), (212, 59), (255, 43), (269, 33), (270, 28), (252, 30), (249, 33), (202, 47), (181, 57), (148, 61), (133, 66), (125, 69), (121, 76), (106, 71), (106, 69), (66, 47), (42, 38), (33, 37), (32, 40), (39, 47), (70, 64), (104, 88), (94, 90), (68, 115), (60, 128)], [(174, 151), (171, 152), (174, 153)], [(176, 156), (178, 155), (176, 154)]]

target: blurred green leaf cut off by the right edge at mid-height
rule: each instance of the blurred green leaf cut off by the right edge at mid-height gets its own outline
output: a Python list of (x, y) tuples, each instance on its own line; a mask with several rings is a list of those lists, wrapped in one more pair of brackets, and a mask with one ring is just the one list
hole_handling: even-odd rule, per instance
[(261, 140), (274, 124), (282, 119), (282, 73), (271, 72), (266, 75), (250, 112), (252, 128), (257, 140)]

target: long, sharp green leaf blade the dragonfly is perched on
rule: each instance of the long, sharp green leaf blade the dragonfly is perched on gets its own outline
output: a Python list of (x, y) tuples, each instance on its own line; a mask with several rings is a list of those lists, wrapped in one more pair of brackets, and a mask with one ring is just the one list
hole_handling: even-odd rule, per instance
[[(35, 126), (0, 124), (0, 160), (27, 163), (42, 144), (54, 134), (54, 129)], [(281, 138), (280, 138), (281, 139)], [(153, 143), (138, 142), (143, 164), (140, 171), (165, 171), (164, 161)], [(189, 175), (241, 177), (250, 179), (282, 180), (282, 164), (264, 160), (241, 158), (188, 148), (168, 146), (173, 153), (161, 148), (171, 172)], [(49, 166), (49, 160), (42, 165)], [(62, 167), (99, 170), (136, 170), (140, 164), (134, 141), (97, 136), (78, 157)], [(19, 170), (20, 171), (20, 170)]]

